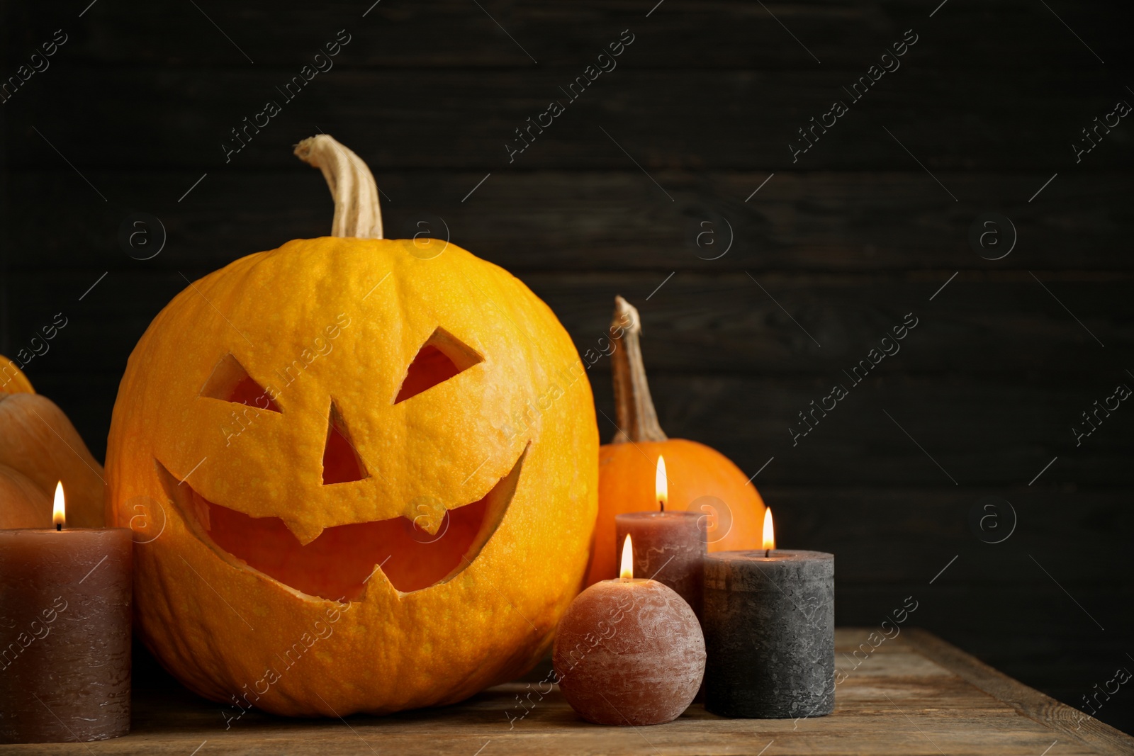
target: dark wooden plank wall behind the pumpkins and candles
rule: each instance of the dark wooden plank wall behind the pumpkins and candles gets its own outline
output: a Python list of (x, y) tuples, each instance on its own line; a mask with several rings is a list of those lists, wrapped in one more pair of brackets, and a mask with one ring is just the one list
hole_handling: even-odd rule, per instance
[[(615, 294), (635, 303), (663, 426), (748, 474), (775, 458), (755, 482), (781, 543), (838, 554), (840, 623), (913, 595), (914, 622), (1072, 705), (1134, 669), (1134, 406), (1082, 445), (1070, 430), (1134, 387), (1134, 118), (1072, 148), (1134, 103), (1125, 3), (99, 0), (79, 17), (87, 1), (5, 3), (3, 76), (68, 41), (0, 105), (0, 351), (65, 313), (27, 373), (96, 456), (183, 273), (329, 230), (322, 179), (291, 155), (323, 130), (373, 168), (391, 235), (443, 219), (581, 350)], [(274, 87), (338, 29), (333, 70), (285, 103)], [(514, 129), (624, 29), (617, 68), (509, 163)], [(900, 68), (852, 103), (841, 87), (906, 29)], [(282, 112), (226, 163), (268, 99)], [(793, 162), (836, 99), (849, 112)], [(152, 260), (119, 245), (134, 212), (168, 232)], [(999, 261), (968, 244), (989, 212), (1018, 235)], [(850, 388), (906, 313), (900, 354)], [(606, 360), (591, 379), (612, 415)], [(849, 396), (793, 445), (838, 382)], [(1017, 516), (999, 544), (968, 525), (987, 495)], [(1132, 703), (1098, 715), (1134, 729)]]

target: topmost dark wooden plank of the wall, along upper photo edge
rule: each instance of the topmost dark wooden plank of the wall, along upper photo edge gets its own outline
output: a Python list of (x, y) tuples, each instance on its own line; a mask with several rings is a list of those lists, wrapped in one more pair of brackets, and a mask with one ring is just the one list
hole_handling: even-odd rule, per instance
[[(287, 67), (314, 54), (328, 34), (333, 36), (335, 29), (346, 27), (359, 40), (342, 57), (341, 65), (347, 66), (531, 67), (534, 63), (524, 50), (541, 66), (582, 66), (598, 54), (608, 37), (617, 39), (619, 31), (631, 27), (641, 42), (636, 43), (640, 46), (634, 48), (634, 56), (625, 57), (624, 65), (628, 67), (780, 70), (813, 68), (819, 65), (818, 58), (823, 66), (865, 68), (874, 56), (913, 26), (926, 39), (920, 43), (925, 49), (917, 49), (919, 60), (936, 67), (976, 70), (1055, 67), (1052, 58), (1080, 68), (1095, 63), (1042, 6), (1021, 0), (995, 7), (955, 5), (932, 19), (925, 3), (913, 0), (870, 5), (781, 3), (769, 7), (775, 18), (759, 5), (739, 0), (667, 0), (649, 17), (652, 3), (627, 0), (482, 5), (491, 18), (459, 0), (442, 0), (429, 7), (325, 2), (305, 10), (208, 8), (209, 17), (239, 44), (237, 49), (192, 7), (158, 9), (145, 2), (122, 2), (86, 14), (84, 34), (68, 42), (67, 52), (84, 65), (128, 61), (236, 68), (248, 65), (240, 53), (244, 50), (257, 67)], [(1055, 8), (1105, 59), (1110, 61), (1120, 54), (1120, 40), (1115, 39), (1115, 31), (1107, 23), (1110, 7), (1084, 3)], [(58, 14), (50, 7), (31, 5), (8, 12), (9, 25), (16, 28), (53, 29), (59, 25)], [(691, 24), (691, 17), (700, 23)], [(154, 33), (169, 28), (179, 33)], [(997, 39), (998, 44), (966, 43), (973, 29)], [(7, 45), (11, 57), (22, 52), (22, 45), (31, 48), (39, 42), (32, 34), (11, 36), (16, 37)], [(443, 40), (443, 44), (424, 44), (423, 40)], [(933, 41), (939, 42), (937, 48), (930, 46)]]

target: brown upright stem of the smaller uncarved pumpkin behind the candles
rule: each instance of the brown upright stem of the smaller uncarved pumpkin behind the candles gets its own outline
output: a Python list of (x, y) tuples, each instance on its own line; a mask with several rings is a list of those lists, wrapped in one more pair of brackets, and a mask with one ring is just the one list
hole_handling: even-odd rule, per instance
[(615, 317), (610, 322), (610, 339), (615, 350), (610, 355), (615, 379), (615, 419), (618, 433), (611, 443), (637, 441), (666, 441), (658, 424), (658, 413), (650, 397), (642, 364), (642, 318), (637, 308), (621, 297), (615, 297)]

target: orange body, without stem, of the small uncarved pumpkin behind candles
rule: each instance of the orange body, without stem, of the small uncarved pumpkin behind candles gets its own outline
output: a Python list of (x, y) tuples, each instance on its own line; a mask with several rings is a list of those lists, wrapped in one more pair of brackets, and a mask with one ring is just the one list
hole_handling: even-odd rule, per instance
[(764, 502), (728, 457), (685, 439), (608, 443), (599, 449), (599, 517), (586, 585), (618, 576), (615, 515), (658, 509), (654, 478), (659, 455), (666, 458), (669, 483), (666, 509), (703, 512), (709, 551), (760, 545)]

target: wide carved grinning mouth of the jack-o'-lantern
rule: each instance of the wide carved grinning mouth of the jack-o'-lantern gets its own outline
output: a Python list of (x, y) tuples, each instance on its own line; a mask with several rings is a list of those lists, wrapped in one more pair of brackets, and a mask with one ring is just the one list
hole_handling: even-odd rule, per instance
[(209, 501), (155, 462), (166, 493), (206, 544), (295, 591), (357, 600), (379, 570), (397, 591), (409, 593), (471, 564), (503, 519), (526, 456), (527, 449), (484, 498), (446, 510), (435, 534), (421, 527), (422, 518), (393, 517), (329, 527), (308, 544), (279, 517), (249, 517)]

